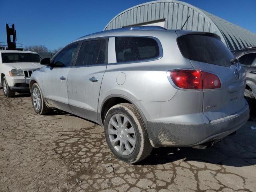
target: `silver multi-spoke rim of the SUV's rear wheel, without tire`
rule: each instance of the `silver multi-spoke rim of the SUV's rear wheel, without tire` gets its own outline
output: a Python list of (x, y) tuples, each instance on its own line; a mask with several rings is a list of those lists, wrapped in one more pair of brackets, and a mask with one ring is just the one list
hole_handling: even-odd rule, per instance
[(123, 114), (114, 114), (108, 123), (108, 136), (114, 149), (122, 155), (129, 155), (136, 145), (134, 127)]

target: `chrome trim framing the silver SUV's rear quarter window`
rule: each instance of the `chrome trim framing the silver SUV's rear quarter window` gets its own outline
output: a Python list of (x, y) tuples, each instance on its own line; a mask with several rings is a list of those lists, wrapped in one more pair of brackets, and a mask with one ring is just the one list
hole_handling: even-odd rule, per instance
[[(150, 61), (155, 61), (155, 60), (159, 60), (163, 57), (163, 48), (162, 48), (162, 44), (160, 42), (160, 40), (156, 37), (153, 36), (140, 36), (140, 35), (122, 35), (122, 36), (111, 36), (115, 38), (115, 42), (116, 42), (116, 37), (144, 37), (144, 38), (151, 38), (154, 39), (157, 44), (158, 44), (158, 48), (159, 48), (159, 55), (157, 57), (154, 58), (150, 58), (150, 59), (142, 59), (142, 60), (137, 60), (137, 61), (126, 61), (126, 62), (115, 62), (115, 63), (109, 63), (108, 65), (120, 65), (120, 64), (130, 64), (130, 63), (141, 63), (141, 62), (150, 62)], [(115, 55), (116, 55), (116, 45), (114, 46), (114, 51), (115, 51)]]

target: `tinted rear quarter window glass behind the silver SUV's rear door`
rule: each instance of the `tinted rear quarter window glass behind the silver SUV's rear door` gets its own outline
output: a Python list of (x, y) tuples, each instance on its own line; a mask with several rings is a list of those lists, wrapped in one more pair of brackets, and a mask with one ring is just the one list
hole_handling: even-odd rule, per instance
[(147, 37), (116, 37), (116, 62), (132, 62), (159, 56), (156, 40)]

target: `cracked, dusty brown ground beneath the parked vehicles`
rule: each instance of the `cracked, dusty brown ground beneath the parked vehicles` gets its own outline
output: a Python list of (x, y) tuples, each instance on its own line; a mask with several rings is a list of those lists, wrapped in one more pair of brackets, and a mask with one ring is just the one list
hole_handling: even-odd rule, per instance
[(60, 110), (37, 115), (29, 95), (0, 89), (0, 191), (256, 191), (252, 125), (205, 150), (158, 148), (130, 165), (112, 155), (101, 126)]

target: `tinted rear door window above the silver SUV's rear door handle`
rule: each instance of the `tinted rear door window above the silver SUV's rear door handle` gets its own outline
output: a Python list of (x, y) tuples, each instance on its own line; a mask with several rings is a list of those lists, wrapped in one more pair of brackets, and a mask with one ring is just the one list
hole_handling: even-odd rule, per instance
[(106, 40), (85, 41), (79, 50), (76, 66), (106, 63)]

